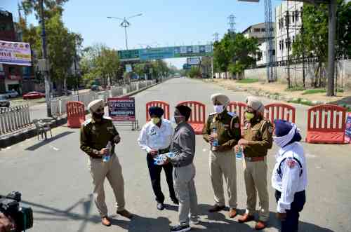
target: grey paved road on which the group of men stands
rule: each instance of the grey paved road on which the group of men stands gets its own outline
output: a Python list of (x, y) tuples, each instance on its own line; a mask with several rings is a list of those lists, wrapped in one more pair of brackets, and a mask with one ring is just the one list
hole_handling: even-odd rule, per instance
[[(177, 102), (197, 100), (206, 104), (211, 111), (209, 96), (225, 93), (231, 100), (244, 101), (245, 92), (233, 92), (219, 86), (190, 79), (171, 79), (158, 86), (135, 95), (136, 114), (140, 125), (145, 123), (145, 103), (150, 100), (164, 100), (173, 107)], [(263, 99), (264, 103), (269, 100)], [(296, 105), (297, 124), (305, 132), (307, 107)], [(113, 218), (113, 225), (102, 227), (91, 196), (92, 184), (88, 172), (87, 156), (79, 150), (79, 130), (65, 126), (53, 130), (53, 139), (38, 141), (29, 139), (0, 151), (0, 194), (17, 190), (22, 192), (25, 205), (33, 207), (34, 228), (29, 231), (169, 231), (168, 226), (177, 221), (177, 207), (166, 205), (158, 211), (151, 189), (145, 161), (136, 139), (139, 131), (118, 128), (121, 144), (117, 146), (123, 167), (126, 189), (126, 207), (135, 213), (129, 221), (117, 217), (113, 194), (105, 184), (107, 205)], [(350, 145), (305, 144), (308, 169), (307, 203), (300, 217), (300, 231), (330, 232), (351, 231), (351, 159)], [(274, 166), (274, 146), (267, 156), (269, 167), (268, 183)], [(209, 214), (213, 204), (213, 192), (208, 174), (208, 145), (201, 135), (197, 136), (194, 159), (197, 168), (195, 178), (199, 198), (201, 223), (194, 231), (253, 231), (254, 222), (238, 224), (237, 217), (230, 219), (227, 212)], [(246, 193), (241, 161), (237, 161), (237, 185), (239, 212), (244, 212)], [(162, 175), (162, 188), (166, 196), (166, 182)], [(270, 224), (265, 231), (278, 231), (275, 219), (276, 203), (274, 190), (270, 193)], [(171, 200), (166, 198), (166, 204)]]

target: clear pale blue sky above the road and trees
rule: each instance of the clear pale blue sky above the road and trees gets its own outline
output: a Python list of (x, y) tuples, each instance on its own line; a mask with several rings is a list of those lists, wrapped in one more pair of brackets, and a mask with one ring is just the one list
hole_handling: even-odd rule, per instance
[[(18, 1), (0, 0), (0, 8), (18, 18)], [(273, 7), (280, 3), (272, 0)], [(227, 18), (231, 14), (236, 17), (237, 32), (265, 21), (262, 0), (259, 3), (237, 0), (69, 0), (64, 8), (65, 26), (72, 32), (82, 34), (84, 46), (105, 43), (117, 50), (126, 48), (124, 28), (119, 26), (119, 20), (111, 20), (107, 16), (124, 18), (143, 13), (129, 20), (129, 49), (209, 43), (216, 32), (220, 38), (227, 32)], [(37, 25), (34, 16), (28, 17), (28, 20)], [(184, 59), (166, 61), (177, 67), (186, 62)]]

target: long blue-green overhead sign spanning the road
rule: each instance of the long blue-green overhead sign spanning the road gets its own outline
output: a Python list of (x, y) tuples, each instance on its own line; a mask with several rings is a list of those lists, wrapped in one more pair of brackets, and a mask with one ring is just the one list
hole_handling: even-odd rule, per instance
[(164, 48), (143, 48), (133, 50), (119, 50), (121, 61), (128, 60), (161, 60), (167, 58), (192, 57), (212, 55), (213, 47), (208, 45), (175, 46)]

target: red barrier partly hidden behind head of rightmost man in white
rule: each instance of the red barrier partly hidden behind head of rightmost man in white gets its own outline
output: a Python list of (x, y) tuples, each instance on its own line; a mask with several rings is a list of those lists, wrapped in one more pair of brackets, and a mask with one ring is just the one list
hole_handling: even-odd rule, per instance
[(272, 103), (265, 105), (265, 118), (274, 123), (275, 119), (286, 120), (295, 123), (295, 107), (284, 103)]

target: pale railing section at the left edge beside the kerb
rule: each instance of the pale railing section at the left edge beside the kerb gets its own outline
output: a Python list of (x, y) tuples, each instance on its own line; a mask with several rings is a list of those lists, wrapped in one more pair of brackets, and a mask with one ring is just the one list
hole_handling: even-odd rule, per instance
[(0, 135), (25, 128), (30, 124), (28, 105), (0, 108)]

